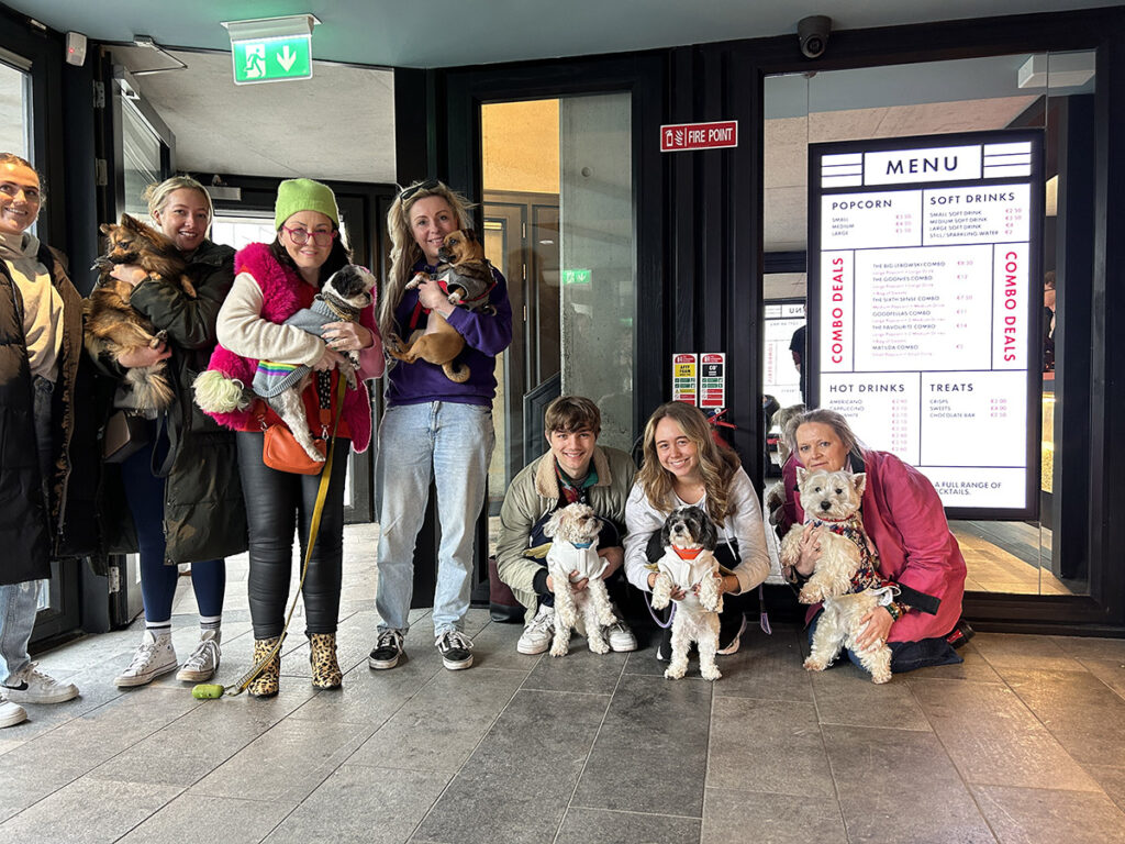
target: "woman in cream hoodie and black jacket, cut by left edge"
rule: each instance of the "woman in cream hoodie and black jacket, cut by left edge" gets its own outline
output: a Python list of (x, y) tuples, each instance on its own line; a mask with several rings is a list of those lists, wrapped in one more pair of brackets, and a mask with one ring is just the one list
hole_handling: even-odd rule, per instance
[[(19, 703), (78, 695), (72, 683), (37, 671), (27, 653), (40, 581), (69, 545), (71, 446), (82, 416), (82, 299), (62, 254), (27, 232), (42, 203), (30, 163), (0, 153), (0, 727), (27, 718)], [(84, 515), (79, 510), (75, 518)]]

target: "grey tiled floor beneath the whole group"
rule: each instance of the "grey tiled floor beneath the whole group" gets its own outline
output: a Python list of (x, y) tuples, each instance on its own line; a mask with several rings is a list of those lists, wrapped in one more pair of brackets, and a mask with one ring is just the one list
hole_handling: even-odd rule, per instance
[[(482, 610), (476, 665), (448, 672), (418, 611), (376, 673), (374, 529), (346, 547), (342, 691), (313, 692), (299, 620), (271, 701), (116, 690), (136, 629), (45, 655), (82, 697), (0, 731), (0, 841), (1125, 842), (1125, 640), (980, 634), (876, 686), (755, 628), (712, 684), (650, 648), (521, 656)], [(230, 566), (226, 683), (251, 649)], [(182, 657), (189, 594), (177, 612)]]

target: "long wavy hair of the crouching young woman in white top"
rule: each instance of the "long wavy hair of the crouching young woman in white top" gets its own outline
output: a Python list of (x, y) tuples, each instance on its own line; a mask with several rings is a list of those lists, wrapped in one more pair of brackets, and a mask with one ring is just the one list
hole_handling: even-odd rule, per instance
[(695, 446), (706, 493), (706, 512), (711, 521), (721, 524), (735, 512), (729, 500), (730, 479), (741, 467), (741, 461), (734, 450), (714, 441), (711, 425), (703, 412), (683, 402), (662, 404), (645, 425), (644, 461), (637, 473), (637, 481), (645, 491), (648, 503), (664, 512), (673, 509), (672, 474), (660, 465), (660, 458), (656, 454), (656, 427), (665, 419), (680, 425), (680, 430)]

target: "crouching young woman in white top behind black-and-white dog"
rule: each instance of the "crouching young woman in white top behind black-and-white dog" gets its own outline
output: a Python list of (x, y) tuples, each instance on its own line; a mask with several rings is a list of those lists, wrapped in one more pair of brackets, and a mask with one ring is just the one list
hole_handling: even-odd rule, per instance
[[(645, 425), (644, 461), (626, 504), (626, 576), (637, 589), (652, 591), (656, 573), (649, 564), (663, 554), (660, 529), (673, 510), (702, 508), (719, 533), (716, 556), (726, 569), (720, 592), (727, 595), (719, 616), (719, 653), (738, 650), (747, 595), (770, 574), (758, 496), (731, 449), (711, 437), (696, 407), (668, 402)], [(657, 649), (670, 653), (670, 628)]]

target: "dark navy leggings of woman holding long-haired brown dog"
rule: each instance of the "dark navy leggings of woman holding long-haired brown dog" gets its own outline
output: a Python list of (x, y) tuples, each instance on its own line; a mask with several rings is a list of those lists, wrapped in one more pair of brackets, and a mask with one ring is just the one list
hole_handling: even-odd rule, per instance
[[(168, 451), (168, 441), (155, 442), (156, 423), (148, 423), (148, 445), (137, 450), (122, 464), (122, 483), (125, 499), (133, 514), (141, 551), (141, 598), (146, 621), (169, 621), (178, 566), (164, 564), (164, 478), (152, 474), (152, 452), (161, 459)], [(223, 614), (226, 592), (226, 560), (205, 559), (191, 564), (191, 587), (196, 593), (199, 614), (214, 618)]]

